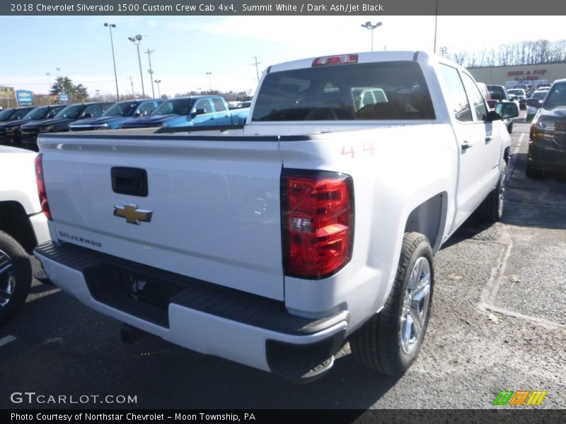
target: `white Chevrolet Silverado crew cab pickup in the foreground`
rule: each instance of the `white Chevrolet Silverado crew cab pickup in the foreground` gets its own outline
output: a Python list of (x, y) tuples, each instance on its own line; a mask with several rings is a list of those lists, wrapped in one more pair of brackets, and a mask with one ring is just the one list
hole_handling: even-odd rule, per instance
[[(399, 375), (433, 254), (502, 215), (509, 134), (465, 69), (424, 52), (270, 66), (246, 125), (40, 137), (55, 285), (200, 353), (313, 379), (346, 341)], [(473, 258), (470, 258), (473, 260)]]

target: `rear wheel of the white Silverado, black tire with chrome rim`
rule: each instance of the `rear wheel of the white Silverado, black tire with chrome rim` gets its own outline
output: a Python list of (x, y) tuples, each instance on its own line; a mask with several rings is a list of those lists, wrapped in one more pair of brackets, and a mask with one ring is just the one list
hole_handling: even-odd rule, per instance
[[(405, 234), (397, 275), (385, 306), (350, 338), (352, 354), (359, 363), (383, 374), (400, 376), (415, 362), (429, 322), (434, 285), (433, 266), (432, 249), (427, 237), (418, 232)], [(423, 290), (417, 293), (423, 295), (422, 300), (412, 301), (411, 288), (417, 274), (418, 282), (428, 281), (428, 285), (427, 288), (423, 285)], [(407, 314), (408, 307), (410, 310), (415, 307), (415, 314), (418, 314), (418, 334), (413, 332), (415, 328), (412, 325), (408, 325), (408, 318), (415, 316)]]

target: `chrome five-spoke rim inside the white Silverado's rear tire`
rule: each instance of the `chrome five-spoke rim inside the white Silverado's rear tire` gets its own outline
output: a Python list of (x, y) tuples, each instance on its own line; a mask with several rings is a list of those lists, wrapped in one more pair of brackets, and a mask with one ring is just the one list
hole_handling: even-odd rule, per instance
[(429, 310), (431, 287), (430, 264), (426, 258), (415, 261), (410, 272), (400, 315), (399, 338), (405, 354), (420, 346)]

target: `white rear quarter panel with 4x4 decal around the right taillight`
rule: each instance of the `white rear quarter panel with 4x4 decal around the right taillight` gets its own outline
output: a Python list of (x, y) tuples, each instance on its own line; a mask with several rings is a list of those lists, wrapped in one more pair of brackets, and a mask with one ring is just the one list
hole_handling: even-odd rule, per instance
[[(320, 281), (286, 277), (289, 310), (316, 316), (347, 309), (349, 332), (380, 310), (395, 278), (408, 216), (433, 196), (454, 197), (455, 150), (451, 127), (432, 123), (336, 131), (308, 142), (282, 142), (284, 167), (350, 175), (355, 202), (352, 261)], [(446, 202), (445, 215), (454, 215), (453, 204)], [(445, 225), (439, 240), (444, 230)]]

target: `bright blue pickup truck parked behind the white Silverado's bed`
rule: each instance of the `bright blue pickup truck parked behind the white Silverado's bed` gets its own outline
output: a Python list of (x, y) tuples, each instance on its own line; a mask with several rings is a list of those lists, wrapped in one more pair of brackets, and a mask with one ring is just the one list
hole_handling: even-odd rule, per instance
[(196, 95), (166, 100), (148, 116), (128, 119), (120, 128), (231, 125), (231, 112), (218, 95)]

